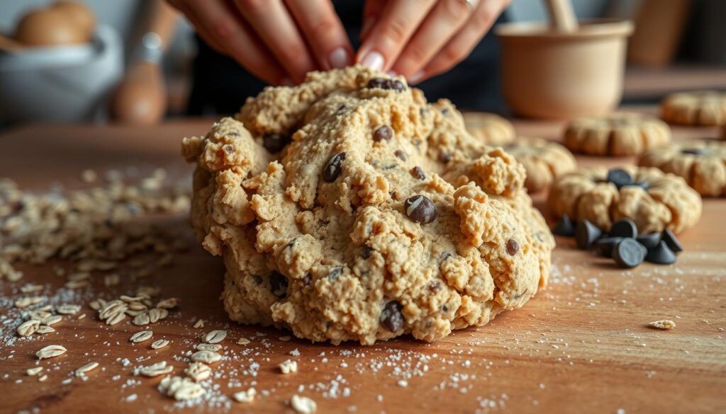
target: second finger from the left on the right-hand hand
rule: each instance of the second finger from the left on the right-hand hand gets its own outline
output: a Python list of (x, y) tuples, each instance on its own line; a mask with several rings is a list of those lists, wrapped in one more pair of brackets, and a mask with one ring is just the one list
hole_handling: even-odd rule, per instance
[(391, 70), (415, 82), (417, 77), (423, 75), (420, 70), (462, 28), (472, 12), (472, 6), (467, 1), (439, 0), (406, 44)]

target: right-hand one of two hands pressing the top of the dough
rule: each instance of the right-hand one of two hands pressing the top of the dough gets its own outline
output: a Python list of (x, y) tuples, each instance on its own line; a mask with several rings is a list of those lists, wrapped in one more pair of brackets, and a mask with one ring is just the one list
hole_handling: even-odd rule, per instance
[(465, 59), (511, 0), (368, 0), (357, 62), (418, 83)]

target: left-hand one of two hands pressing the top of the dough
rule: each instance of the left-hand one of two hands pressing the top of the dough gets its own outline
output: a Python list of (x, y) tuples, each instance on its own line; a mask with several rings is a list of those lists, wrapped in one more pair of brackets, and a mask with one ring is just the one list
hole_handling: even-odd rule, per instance
[(346, 31), (330, 0), (168, 0), (217, 51), (273, 85), (350, 65)]

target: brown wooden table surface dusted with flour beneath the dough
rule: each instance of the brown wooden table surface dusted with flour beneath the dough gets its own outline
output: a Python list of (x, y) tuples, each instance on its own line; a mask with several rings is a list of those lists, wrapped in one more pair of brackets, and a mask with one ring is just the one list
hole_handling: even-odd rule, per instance
[[(204, 133), (211, 120), (177, 120), (150, 128), (118, 126), (30, 126), (0, 135), (0, 177), (33, 190), (52, 183), (83, 186), (81, 171), (134, 166), (165, 167), (188, 176), (179, 140)], [(522, 136), (558, 138), (562, 125), (516, 122)], [(677, 138), (715, 136), (712, 129), (676, 128)], [(581, 165), (616, 165), (628, 160), (579, 157)], [(184, 174), (184, 175), (182, 175)], [(542, 206), (542, 194), (534, 197)], [(38, 408), (40, 413), (166, 411), (289, 412), (285, 401), (303, 394), (318, 413), (724, 413), (726, 410), (726, 199), (706, 199), (701, 221), (682, 234), (685, 252), (677, 264), (644, 264), (621, 270), (608, 260), (558, 239), (547, 289), (525, 307), (505, 312), (482, 328), (468, 328), (434, 344), (410, 338), (372, 347), (281, 341), (286, 332), (238, 326), (225, 317), (219, 293), (222, 266), (195, 247), (145, 284), (163, 286), (163, 296), (181, 298), (179, 312), (152, 326), (155, 338), (172, 343), (152, 350), (131, 344), (139, 328), (108, 327), (87, 307), (98, 295), (134, 291), (131, 281), (93, 289), (70, 300), (89, 317), (64, 320), (57, 331), (33, 339), (12, 334), (12, 298), (33, 281), (55, 294), (64, 280), (45, 267), (24, 266), (17, 283), (0, 281), (0, 413)], [(187, 226), (171, 217), (165, 225)], [(191, 231), (186, 237), (194, 244)], [(8, 297), (9, 295), (9, 297)], [(192, 328), (195, 318), (205, 328)], [(648, 328), (671, 319), (672, 331)], [(155, 388), (161, 377), (133, 376), (138, 365), (167, 360), (181, 373), (185, 353), (199, 337), (226, 328), (227, 360), (216, 364), (213, 397), (179, 407)], [(252, 339), (237, 344), (241, 336)], [(37, 349), (62, 344), (68, 352), (43, 360), (48, 380), (25, 376), (36, 366)], [(298, 357), (288, 353), (298, 349)], [(298, 360), (298, 373), (277, 372), (277, 363)], [(91, 360), (101, 368), (86, 381), (69, 373)], [(258, 366), (256, 365), (258, 364)], [(252, 374), (256, 373), (255, 376)], [(406, 380), (404, 383), (401, 380)], [(232, 392), (254, 385), (250, 405), (229, 401)], [(405, 385), (405, 386), (404, 386)], [(32, 411), (31, 411), (32, 412)]]

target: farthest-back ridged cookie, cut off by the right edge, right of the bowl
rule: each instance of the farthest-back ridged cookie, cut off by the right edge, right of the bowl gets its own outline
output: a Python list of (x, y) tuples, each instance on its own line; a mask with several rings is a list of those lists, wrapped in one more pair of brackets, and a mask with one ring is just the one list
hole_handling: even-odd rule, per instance
[(726, 123), (726, 93), (679, 92), (661, 102), (661, 117), (677, 125), (714, 126)]

